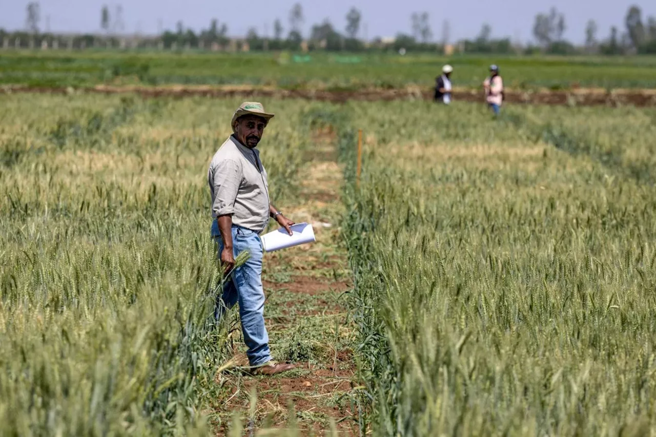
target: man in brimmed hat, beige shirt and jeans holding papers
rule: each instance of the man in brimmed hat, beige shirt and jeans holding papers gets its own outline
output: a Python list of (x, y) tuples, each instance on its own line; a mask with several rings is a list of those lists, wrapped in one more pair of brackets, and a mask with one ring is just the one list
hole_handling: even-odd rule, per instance
[[(274, 114), (258, 102), (244, 102), (232, 117), (233, 135), (218, 149), (209, 165), (207, 182), (212, 196), (212, 236), (218, 255), (230, 275), (217, 302), (216, 316), (239, 302), (239, 318), (253, 373), (275, 375), (296, 366), (272, 360), (264, 327), (262, 242), (260, 233), (274, 218), (291, 235), (294, 224), (271, 204), (266, 170), (256, 146)], [(249, 259), (235, 267), (235, 258), (247, 251)]]

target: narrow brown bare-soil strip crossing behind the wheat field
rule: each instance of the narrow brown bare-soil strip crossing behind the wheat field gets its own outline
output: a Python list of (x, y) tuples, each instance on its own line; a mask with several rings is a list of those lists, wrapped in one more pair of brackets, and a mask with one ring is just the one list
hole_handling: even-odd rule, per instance
[[(304, 98), (308, 100), (321, 100), (327, 102), (346, 102), (348, 100), (399, 100), (399, 99), (432, 99), (430, 87), (420, 88), (409, 86), (403, 89), (359, 89), (359, 90), (312, 90), (296, 89), (285, 90), (275, 87), (250, 86), (208, 86), (208, 85), (169, 85), (161, 87), (147, 86), (111, 86), (97, 85), (79, 89), (72, 88), (43, 88), (24, 87), (18, 85), (5, 85), (0, 87), (0, 94), (10, 93), (135, 93), (144, 97), (159, 96), (207, 96), (225, 98), (232, 96), (243, 97), (272, 97), (272, 98)], [(506, 90), (506, 102), (514, 104), (549, 104), (570, 106), (656, 106), (656, 90), (654, 89), (618, 89), (606, 91), (605, 89), (571, 89), (571, 90)], [(482, 94), (476, 89), (455, 89), (453, 99), (464, 102), (482, 102)]]

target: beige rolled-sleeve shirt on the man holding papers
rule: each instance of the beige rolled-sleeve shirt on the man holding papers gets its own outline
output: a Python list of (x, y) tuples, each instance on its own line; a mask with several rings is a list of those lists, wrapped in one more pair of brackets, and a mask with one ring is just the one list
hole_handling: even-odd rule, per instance
[(209, 165), (212, 218), (232, 215), (232, 224), (260, 234), (269, 220), (269, 186), (260, 152), (230, 136)]

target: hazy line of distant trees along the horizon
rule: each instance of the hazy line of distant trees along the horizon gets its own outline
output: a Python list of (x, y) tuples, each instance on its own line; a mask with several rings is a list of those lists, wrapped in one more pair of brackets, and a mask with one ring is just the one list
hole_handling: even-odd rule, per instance
[[(352, 7), (345, 16), (344, 30), (338, 30), (329, 20), (314, 24), (308, 35), (303, 35), (304, 11), (300, 3), (295, 4), (287, 17), (287, 28), (276, 18), (273, 35), (261, 35), (251, 28), (241, 38), (228, 36), (228, 25), (213, 18), (207, 29), (194, 31), (185, 28), (180, 21), (174, 30), (161, 31), (152, 37), (125, 37), (123, 10), (120, 6), (113, 11), (103, 6), (100, 11), (100, 33), (86, 35), (57, 35), (41, 31), (41, 7), (31, 1), (26, 7), (25, 29), (7, 32), (0, 29), (0, 47), (159, 47), (160, 49), (213, 49), (213, 50), (290, 50), (290, 51), (459, 51), (469, 53), (547, 53), (547, 54), (656, 54), (656, 18), (642, 16), (640, 7), (629, 7), (625, 16), (625, 30), (613, 26), (607, 37), (598, 39), (598, 26), (590, 20), (585, 28), (585, 43), (575, 46), (564, 38), (567, 23), (565, 16), (556, 8), (540, 12), (533, 22), (534, 43), (520, 46), (510, 38), (493, 38), (492, 28), (483, 24), (480, 32), (472, 39), (450, 44), (451, 27), (448, 20), (442, 24), (441, 39), (436, 41), (430, 26), (428, 12), (413, 12), (410, 17), (409, 33), (398, 33), (395, 37), (368, 39), (361, 35), (362, 14)], [(366, 31), (365, 31), (366, 33)], [(127, 41), (127, 43), (126, 43)]]

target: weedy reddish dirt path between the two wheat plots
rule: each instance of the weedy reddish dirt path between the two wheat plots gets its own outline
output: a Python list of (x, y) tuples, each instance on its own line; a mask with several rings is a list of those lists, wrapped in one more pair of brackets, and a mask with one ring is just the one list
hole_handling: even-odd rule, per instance
[[(342, 172), (330, 133), (318, 135), (310, 157), (302, 177), (303, 201), (285, 208), (285, 215), (311, 222), (317, 242), (265, 255), (263, 273), (274, 358), (300, 368), (279, 377), (230, 371), (221, 376), (227, 388), (224, 409), (241, 411), (247, 435), (287, 435), (290, 427), (297, 427), (300, 436), (359, 435), (349, 396), (356, 386), (353, 329), (343, 295), (351, 283), (338, 230)], [(243, 344), (236, 345), (245, 364)], [(228, 420), (220, 435), (227, 432)]]

